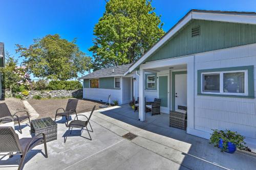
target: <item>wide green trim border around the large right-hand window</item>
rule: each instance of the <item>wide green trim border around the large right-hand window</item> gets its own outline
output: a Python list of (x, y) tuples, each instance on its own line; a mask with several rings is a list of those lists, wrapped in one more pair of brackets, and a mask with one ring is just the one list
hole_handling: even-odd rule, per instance
[[(225, 68), (214, 68), (214, 69), (201, 69), (197, 71), (197, 93), (198, 95), (209, 95), (209, 96), (223, 96), (228, 98), (254, 98), (254, 76), (253, 76), (253, 65), (240, 66), (240, 67), (225, 67)], [(225, 95), (225, 94), (202, 94), (201, 93), (201, 80), (202, 72), (216, 72), (216, 71), (236, 71), (236, 70), (248, 70), (248, 95)]]

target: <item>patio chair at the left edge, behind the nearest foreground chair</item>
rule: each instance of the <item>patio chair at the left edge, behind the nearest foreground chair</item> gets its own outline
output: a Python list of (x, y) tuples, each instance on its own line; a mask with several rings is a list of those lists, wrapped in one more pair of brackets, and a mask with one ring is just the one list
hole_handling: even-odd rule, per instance
[[(22, 113), (24, 112), (25, 114), (24, 115), (17, 115), (17, 113)], [(29, 119), (29, 125), (31, 126), (31, 123), (30, 123), (30, 115), (29, 115), (29, 112), (26, 111), (26, 110), (23, 110), (23, 111), (18, 111), (14, 114), (11, 114), (8, 106), (6, 105), (6, 103), (0, 103), (0, 118), (3, 118), (3, 117), (6, 117), (6, 116), (11, 116), (13, 117), (14, 119), (14, 122), (18, 122), (18, 126), (19, 126), (19, 130), (20, 130), (20, 133), (22, 133), (22, 128), (20, 127), (20, 122), (25, 120), (25, 119)], [(10, 122), (10, 119), (2, 119), (0, 120), (0, 123), (8, 123)]]

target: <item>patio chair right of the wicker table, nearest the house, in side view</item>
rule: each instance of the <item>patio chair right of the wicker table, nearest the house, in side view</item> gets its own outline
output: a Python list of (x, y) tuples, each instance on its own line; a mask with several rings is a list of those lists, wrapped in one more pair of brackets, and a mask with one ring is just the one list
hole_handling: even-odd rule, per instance
[[(93, 132), (93, 128), (92, 128), (92, 126), (91, 126), (91, 124), (90, 124), (90, 119), (91, 119), (91, 116), (92, 116), (92, 114), (93, 114), (93, 112), (94, 112), (94, 110), (95, 110), (95, 108), (96, 108), (96, 105), (93, 107), (93, 110), (91, 111), (91, 114), (90, 114), (90, 116), (89, 117), (87, 117), (86, 115), (83, 115), (83, 114), (78, 114), (78, 116), (84, 116), (84, 117), (86, 117), (87, 118), (87, 120), (78, 120), (78, 118), (77, 118), (77, 120), (71, 120), (71, 122), (68, 124), (68, 131), (70, 131), (70, 129), (71, 129), (71, 131), (70, 131), (70, 134), (72, 133), (72, 130), (73, 130), (73, 128), (79, 128), (79, 129), (81, 129), (81, 135), (82, 135), (82, 131), (83, 130), (87, 130), (87, 132), (88, 132), (88, 134), (89, 134), (89, 136), (90, 136), (90, 138), (87, 138), (87, 139), (89, 139), (89, 140), (92, 140), (92, 137), (91, 137), (91, 135), (90, 135), (90, 132)], [(69, 122), (69, 120), (68, 120), (68, 122)], [(87, 126), (88, 125), (90, 125), (90, 127), (91, 127), (91, 131), (89, 132), (89, 130), (88, 130), (88, 128), (87, 128)], [(84, 128), (86, 128), (86, 129), (84, 129)], [(80, 135), (80, 136), (81, 136)], [(81, 137), (83, 137), (83, 136), (81, 136)], [(64, 137), (64, 142), (66, 142), (66, 140), (67, 140), (67, 138), (68, 138), (68, 135), (66, 135), (66, 138)], [(84, 137), (84, 138), (86, 138), (86, 137)]]

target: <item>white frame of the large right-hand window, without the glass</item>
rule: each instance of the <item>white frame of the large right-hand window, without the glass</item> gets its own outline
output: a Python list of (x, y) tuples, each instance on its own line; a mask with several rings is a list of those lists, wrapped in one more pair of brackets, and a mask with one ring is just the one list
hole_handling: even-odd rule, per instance
[[(223, 74), (229, 72), (244, 72), (244, 93), (231, 93), (231, 92), (224, 92), (223, 91)], [(210, 92), (204, 91), (204, 75), (211, 75), (211, 74), (219, 74), (220, 75), (220, 91), (219, 92)], [(202, 72), (201, 73), (201, 93), (202, 94), (222, 94), (222, 95), (248, 95), (248, 70), (234, 70), (234, 71), (216, 71), (216, 72)]]

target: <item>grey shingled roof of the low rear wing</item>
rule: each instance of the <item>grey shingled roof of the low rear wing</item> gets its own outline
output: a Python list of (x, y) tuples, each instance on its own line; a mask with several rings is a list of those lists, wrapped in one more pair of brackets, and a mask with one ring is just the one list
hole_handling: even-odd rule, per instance
[[(103, 77), (124, 76), (125, 72), (129, 70), (129, 67), (131, 65), (132, 64), (125, 64), (125, 65), (119, 65), (116, 67), (99, 69), (79, 79), (94, 79), (94, 78), (103, 78)], [(114, 72), (113, 72), (113, 69), (114, 69)]]

